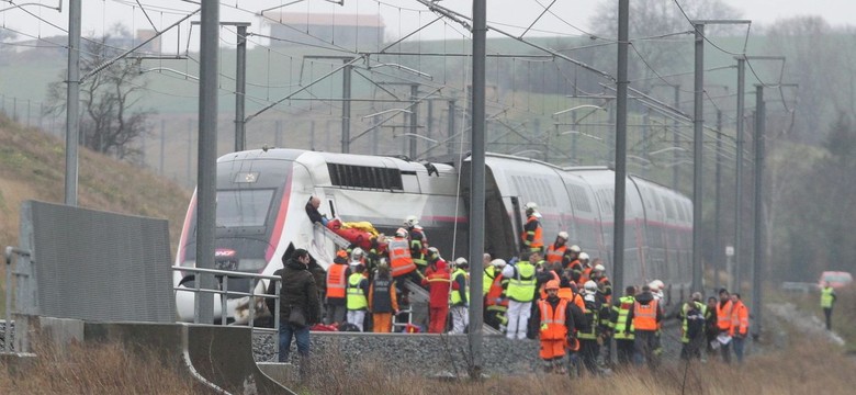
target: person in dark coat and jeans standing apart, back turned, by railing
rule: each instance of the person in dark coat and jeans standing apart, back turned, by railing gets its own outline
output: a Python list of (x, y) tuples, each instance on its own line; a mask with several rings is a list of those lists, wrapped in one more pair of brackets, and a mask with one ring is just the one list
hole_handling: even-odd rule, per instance
[[(320, 300), (315, 278), (309, 272), (309, 252), (299, 248), (285, 261), (280, 289), (280, 353), (279, 361), (288, 362), (291, 339), (295, 338), (300, 356), (300, 374), (305, 379), (309, 364), (309, 327), (320, 321)], [(306, 317), (303, 326), (289, 324), (292, 309), (301, 308)]]

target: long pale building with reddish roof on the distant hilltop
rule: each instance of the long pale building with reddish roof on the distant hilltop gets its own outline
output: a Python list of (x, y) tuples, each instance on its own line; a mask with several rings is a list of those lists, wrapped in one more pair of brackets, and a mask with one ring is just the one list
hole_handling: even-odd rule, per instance
[(376, 49), (384, 40), (381, 15), (327, 13), (264, 13), (271, 46), (335, 45), (348, 49)]

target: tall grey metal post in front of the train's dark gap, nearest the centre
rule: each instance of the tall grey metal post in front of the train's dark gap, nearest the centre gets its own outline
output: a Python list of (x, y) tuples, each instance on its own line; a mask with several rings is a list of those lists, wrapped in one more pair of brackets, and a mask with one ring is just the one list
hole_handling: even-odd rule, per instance
[[(473, 102), (472, 102), (472, 178), (470, 179), (470, 379), (482, 376), (482, 255), (485, 219), (485, 63), (487, 36), (487, 0), (473, 0)], [(450, 112), (451, 116), (452, 113)], [(415, 112), (414, 112), (415, 116)], [(451, 133), (451, 131), (450, 131)]]

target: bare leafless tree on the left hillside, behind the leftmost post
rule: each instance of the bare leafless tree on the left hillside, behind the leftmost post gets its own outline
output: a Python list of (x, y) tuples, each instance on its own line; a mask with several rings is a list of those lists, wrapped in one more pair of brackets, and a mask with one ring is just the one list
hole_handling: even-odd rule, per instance
[[(137, 105), (147, 84), (139, 74), (139, 65), (127, 59), (109, 63), (121, 53), (117, 47), (131, 40), (121, 27), (114, 27), (113, 33), (87, 40), (81, 52), (81, 76), (106, 65), (80, 83), (81, 143), (120, 159), (134, 159), (140, 153), (133, 143), (147, 133), (147, 121), (155, 112)], [(65, 75), (63, 71), (61, 77)], [(66, 83), (52, 82), (48, 111), (63, 113), (65, 103)]]

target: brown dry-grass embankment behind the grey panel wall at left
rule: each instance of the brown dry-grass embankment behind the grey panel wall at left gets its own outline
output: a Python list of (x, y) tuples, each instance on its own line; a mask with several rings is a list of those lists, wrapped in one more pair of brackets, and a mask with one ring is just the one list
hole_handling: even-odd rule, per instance
[[(176, 250), (190, 191), (129, 163), (79, 150), (78, 205), (166, 218)], [(16, 246), (21, 202), (65, 201), (65, 142), (0, 113), (0, 247)]]

